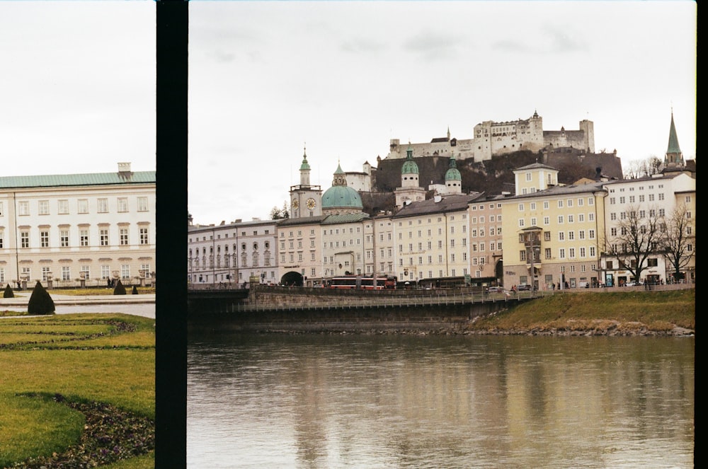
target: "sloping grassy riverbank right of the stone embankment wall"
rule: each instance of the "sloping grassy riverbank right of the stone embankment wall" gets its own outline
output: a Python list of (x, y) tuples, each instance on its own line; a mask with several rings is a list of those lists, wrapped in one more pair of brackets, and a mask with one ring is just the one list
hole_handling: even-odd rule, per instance
[(480, 318), (486, 334), (685, 335), (695, 331), (696, 290), (555, 294)]

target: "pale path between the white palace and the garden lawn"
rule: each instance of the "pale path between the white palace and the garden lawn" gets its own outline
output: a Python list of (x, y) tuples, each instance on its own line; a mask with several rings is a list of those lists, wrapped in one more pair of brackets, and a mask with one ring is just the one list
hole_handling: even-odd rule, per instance
[[(0, 298), (0, 311), (27, 311), (31, 291), (16, 291), (14, 298)], [(50, 291), (57, 314), (125, 313), (155, 318), (155, 294), (61, 295)]]

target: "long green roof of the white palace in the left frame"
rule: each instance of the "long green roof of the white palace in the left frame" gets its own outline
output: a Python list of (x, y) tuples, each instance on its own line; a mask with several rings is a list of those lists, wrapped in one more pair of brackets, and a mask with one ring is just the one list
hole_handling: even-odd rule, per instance
[(155, 183), (156, 171), (135, 173), (87, 173), (0, 177), (0, 189), (14, 187), (67, 187), (86, 185)]

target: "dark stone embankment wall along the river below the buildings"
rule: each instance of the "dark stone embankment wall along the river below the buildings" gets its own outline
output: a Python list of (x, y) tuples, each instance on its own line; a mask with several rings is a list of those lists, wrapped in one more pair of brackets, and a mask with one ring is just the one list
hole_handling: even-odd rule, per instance
[(461, 294), (446, 293), (258, 288), (248, 301), (237, 305), (219, 301), (205, 308), (193, 303), (190, 328), (263, 332), (460, 330), (479, 315), (507, 307), (506, 301), (465, 303)]

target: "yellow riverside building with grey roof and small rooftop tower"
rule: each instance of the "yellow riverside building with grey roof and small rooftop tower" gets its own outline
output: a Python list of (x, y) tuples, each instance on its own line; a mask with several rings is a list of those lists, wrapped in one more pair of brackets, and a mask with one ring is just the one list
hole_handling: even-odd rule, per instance
[(538, 163), (515, 175), (522, 187), (501, 202), (504, 285), (553, 289), (598, 284), (604, 183), (555, 185), (557, 170)]

